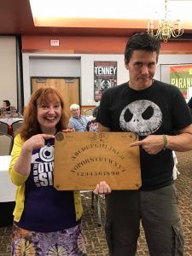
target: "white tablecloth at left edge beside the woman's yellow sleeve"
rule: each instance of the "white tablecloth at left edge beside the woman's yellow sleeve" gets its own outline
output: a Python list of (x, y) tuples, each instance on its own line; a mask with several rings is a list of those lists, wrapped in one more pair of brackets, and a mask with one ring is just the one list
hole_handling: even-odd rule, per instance
[(0, 156), (0, 202), (15, 201), (16, 186), (9, 177), (10, 155)]

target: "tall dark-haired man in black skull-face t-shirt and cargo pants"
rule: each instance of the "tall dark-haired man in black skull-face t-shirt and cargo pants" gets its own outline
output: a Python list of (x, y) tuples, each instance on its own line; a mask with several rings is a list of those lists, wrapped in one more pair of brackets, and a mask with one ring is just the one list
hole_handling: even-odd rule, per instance
[[(96, 194), (108, 194), (106, 236), (109, 255), (137, 252), (140, 220), (151, 256), (183, 255), (183, 231), (173, 184), (172, 150), (192, 149), (192, 119), (176, 86), (154, 80), (160, 41), (141, 33), (125, 47), (128, 83), (106, 90), (97, 121), (99, 131), (134, 131), (140, 147), (142, 187), (116, 190), (96, 185)], [(177, 136), (175, 135), (177, 131)]]

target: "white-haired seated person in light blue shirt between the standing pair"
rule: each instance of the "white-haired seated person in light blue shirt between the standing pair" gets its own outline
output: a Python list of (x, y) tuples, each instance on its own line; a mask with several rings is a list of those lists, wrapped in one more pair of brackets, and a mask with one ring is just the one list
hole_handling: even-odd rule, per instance
[(79, 105), (72, 104), (70, 111), (72, 117), (69, 119), (68, 127), (73, 128), (74, 131), (87, 131), (86, 126), (90, 118), (80, 114)]

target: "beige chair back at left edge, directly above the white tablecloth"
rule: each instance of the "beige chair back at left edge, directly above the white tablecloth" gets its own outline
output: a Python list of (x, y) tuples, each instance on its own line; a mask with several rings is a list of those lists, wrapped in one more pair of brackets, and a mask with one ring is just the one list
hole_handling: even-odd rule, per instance
[(14, 143), (14, 138), (6, 133), (0, 133), (0, 155), (9, 155)]

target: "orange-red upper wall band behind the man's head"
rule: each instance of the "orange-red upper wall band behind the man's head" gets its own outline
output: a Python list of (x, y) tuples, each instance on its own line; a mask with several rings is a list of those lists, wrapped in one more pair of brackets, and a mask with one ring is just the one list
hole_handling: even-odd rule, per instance
[[(50, 46), (50, 39), (59, 39), (60, 46)], [(22, 36), (23, 52), (123, 54), (125, 37), (55, 37)], [(191, 40), (175, 40), (161, 44), (161, 54), (192, 54)]]

